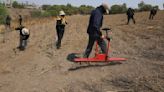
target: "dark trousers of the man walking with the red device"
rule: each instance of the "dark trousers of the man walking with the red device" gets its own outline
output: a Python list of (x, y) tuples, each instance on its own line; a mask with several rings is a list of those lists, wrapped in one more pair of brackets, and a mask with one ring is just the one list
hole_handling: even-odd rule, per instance
[(94, 37), (92, 35), (89, 35), (88, 46), (87, 46), (87, 48), (85, 50), (85, 53), (84, 53), (84, 57), (85, 58), (88, 58), (89, 57), (95, 41), (98, 42), (98, 45), (100, 46), (100, 48), (102, 50), (102, 53), (106, 53), (107, 52), (106, 43), (105, 43), (105, 41), (102, 38), (100, 38), (100, 37)]

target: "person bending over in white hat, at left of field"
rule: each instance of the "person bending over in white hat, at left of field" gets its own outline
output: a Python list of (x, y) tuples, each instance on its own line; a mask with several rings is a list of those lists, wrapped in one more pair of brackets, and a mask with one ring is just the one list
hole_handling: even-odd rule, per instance
[(24, 26), (19, 26), (19, 27), (15, 28), (15, 30), (20, 31), (20, 43), (17, 48), (19, 50), (23, 51), (26, 49), (27, 41), (30, 36), (30, 31), (29, 31), (29, 29), (25, 28)]

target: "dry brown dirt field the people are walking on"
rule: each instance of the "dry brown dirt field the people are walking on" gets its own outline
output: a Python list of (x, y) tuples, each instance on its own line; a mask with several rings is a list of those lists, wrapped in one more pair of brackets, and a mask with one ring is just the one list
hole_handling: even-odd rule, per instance
[[(84, 52), (89, 16), (68, 17), (62, 48), (55, 48), (55, 20), (35, 19), (28, 48), (20, 52), (19, 33), (0, 35), (0, 92), (164, 92), (164, 11), (154, 20), (137, 13), (136, 24), (126, 24), (126, 15), (104, 17), (112, 28), (111, 56), (125, 57), (122, 64), (83, 64), (68, 60)], [(94, 51), (93, 51), (94, 52)], [(92, 55), (91, 55), (92, 56)]]

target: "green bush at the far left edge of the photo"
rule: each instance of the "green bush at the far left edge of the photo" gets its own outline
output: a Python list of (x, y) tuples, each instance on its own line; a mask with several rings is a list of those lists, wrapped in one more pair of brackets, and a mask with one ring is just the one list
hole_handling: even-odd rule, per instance
[(7, 10), (3, 5), (0, 5), (0, 24), (5, 23), (5, 18), (7, 15)]

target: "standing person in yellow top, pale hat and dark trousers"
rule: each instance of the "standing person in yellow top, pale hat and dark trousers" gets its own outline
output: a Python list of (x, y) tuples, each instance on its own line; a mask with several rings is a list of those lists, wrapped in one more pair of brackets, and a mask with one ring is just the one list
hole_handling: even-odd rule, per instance
[(60, 11), (59, 15), (60, 16), (57, 18), (57, 21), (56, 21), (56, 31), (57, 31), (56, 33), (58, 37), (57, 42), (56, 42), (57, 49), (60, 49), (61, 47), (61, 40), (64, 35), (65, 25), (67, 24), (64, 11)]

